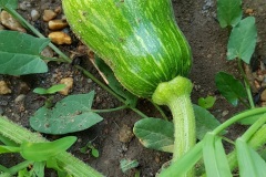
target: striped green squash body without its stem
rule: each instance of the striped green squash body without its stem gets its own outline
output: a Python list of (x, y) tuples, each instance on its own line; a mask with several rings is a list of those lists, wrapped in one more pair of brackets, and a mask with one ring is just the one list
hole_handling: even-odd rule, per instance
[(63, 0), (73, 32), (133, 94), (151, 97), (161, 82), (186, 76), (191, 48), (171, 0)]

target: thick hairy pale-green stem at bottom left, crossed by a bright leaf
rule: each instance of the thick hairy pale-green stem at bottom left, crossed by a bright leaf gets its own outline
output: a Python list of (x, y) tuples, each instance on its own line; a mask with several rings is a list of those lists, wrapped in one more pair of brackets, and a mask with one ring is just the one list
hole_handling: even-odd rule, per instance
[[(42, 143), (48, 142), (40, 134), (31, 133), (30, 131), (19, 126), (8, 118), (0, 116), (0, 134), (13, 142), (21, 144), (22, 142)], [(103, 175), (88, 166), (73, 155), (64, 152), (55, 157), (63, 166), (64, 170), (74, 177), (102, 177)]]

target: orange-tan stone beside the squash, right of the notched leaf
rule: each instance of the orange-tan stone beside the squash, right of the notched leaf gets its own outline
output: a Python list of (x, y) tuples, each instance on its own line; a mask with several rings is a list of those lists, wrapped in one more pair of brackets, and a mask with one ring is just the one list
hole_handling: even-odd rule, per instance
[(62, 31), (51, 32), (48, 38), (55, 44), (71, 44), (71, 37)]

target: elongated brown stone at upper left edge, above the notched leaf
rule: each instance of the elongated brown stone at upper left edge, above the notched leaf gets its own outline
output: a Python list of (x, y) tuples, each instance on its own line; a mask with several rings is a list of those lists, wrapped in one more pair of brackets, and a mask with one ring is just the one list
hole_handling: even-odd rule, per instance
[(1, 12), (0, 19), (1, 19), (2, 25), (4, 25), (6, 28), (14, 31), (24, 32), (24, 33), (27, 32), (25, 29), (7, 11), (3, 10)]

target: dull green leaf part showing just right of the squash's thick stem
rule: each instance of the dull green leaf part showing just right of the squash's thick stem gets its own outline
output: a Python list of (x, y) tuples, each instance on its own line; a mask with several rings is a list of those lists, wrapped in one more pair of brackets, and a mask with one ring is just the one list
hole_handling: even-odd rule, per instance
[[(205, 108), (193, 105), (196, 118), (196, 136), (203, 139), (207, 132), (215, 129), (221, 123)], [(225, 132), (224, 132), (225, 133)]]

